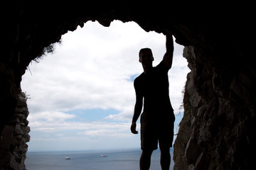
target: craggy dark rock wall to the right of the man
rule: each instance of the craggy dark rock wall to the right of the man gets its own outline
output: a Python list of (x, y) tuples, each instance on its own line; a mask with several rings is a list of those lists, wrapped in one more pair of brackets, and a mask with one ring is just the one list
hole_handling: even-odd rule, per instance
[[(185, 113), (174, 145), (174, 169), (251, 169), (255, 152), (255, 69), (198, 62), (185, 47), (191, 72)], [(250, 156), (249, 156), (250, 155)]]

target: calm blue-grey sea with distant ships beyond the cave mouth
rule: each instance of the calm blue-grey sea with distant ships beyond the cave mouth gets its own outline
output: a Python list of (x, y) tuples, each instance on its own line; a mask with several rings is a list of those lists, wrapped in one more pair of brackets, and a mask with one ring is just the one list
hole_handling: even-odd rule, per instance
[[(27, 170), (136, 170), (139, 169), (141, 153), (141, 149), (27, 152), (25, 164)], [(170, 153), (170, 169), (173, 169), (173, 148), (171, 148)], [(70, 159), (65, 159), (65, 157)], [(154, 150), (151, 156), (150, 169), (161, 169), (159, 149)]]

